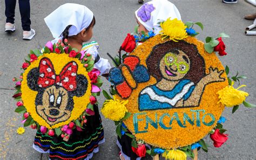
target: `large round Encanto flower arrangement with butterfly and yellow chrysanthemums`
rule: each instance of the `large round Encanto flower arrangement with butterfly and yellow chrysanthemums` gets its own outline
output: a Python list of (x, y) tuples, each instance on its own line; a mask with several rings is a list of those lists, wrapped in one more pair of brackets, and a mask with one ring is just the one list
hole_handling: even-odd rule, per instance
[[(132, 138), (132, 150), (139, 157), (145, 152), (168, 159), (194, 157), (200, 148), (207, 151), (203, 138), (208, 134), (214, 147), (220, 147), (228, 139), (221, 124), (225, 106), (233, 112), (241, 103), (255, 107), (245, 101), (248, 93), (233, 88), (234, 81), (246, 77), (227, 76), (229, 68), (213, 52), (226, 55), (221, 38), (229, 36), (207, 37), (204, 44), (194, 37), (199, 34), (194, 25), (203, 30), (200, 22), (169, 18), (160, 24), (160, 34), (136, 33), (135, 40), (126, 38), (118, 57), (111, 57), (117, 66), (109, 73), (114, 99), (104, 92), (102, 113), (114, 121), (119, 137)], [(122, 50), (129, 54), (122, 56)], [(145, 143), (152, 147), (145, 150)]]

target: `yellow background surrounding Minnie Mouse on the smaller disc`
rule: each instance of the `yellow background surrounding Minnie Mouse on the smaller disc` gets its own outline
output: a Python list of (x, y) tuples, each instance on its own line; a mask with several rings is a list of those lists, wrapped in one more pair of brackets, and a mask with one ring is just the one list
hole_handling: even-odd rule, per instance
[[(37, 68), (39, 66), (39, 63), (41, 59), (48, 58), (52, 62), (52, 65), (54, 67), (56, 75), (59, 75), (62, 71), (63, 67), (68, 64), (69, 62), (75, 62), (77, 64), (77, 74), (83, 75), (87, 79), (87, 89), (85, 93), (82, 96), (73, 96), (73, 109), (71, 111), (71, 114), (68, 119), (65, 121), (56, 123), (54, 125), (50, 125), (48, 122), (46, 122), (41, 115), (37, 113), (35, 100), (36, 96), (38, 94), (37, 91), (32, 91), (30, 87), (28, 86), (28, 79), (27, 76), (31, 69)], [(62, 89), (63, 90), (63, 89)], [(40, 126), (45, 126), (48, 129), (51, 128), (58, 128), (62, 127), (65, 124), (69, 124), (72, 120), (78, 119), (78, 117), (84, 112), (87, 105), (90, 103), (90, 95), (91, 95), (91, 81), (88, 76), (88, 72), (86, 71), (86, 68), (83, 66), (82, 62), (80, 62), (77, 58), (71, 58), (68, 54), (56, 54), (56, 53), (46, 53), (38, 57), (37, 60), (33, 61), (31, 65), (25, 70), (23, 73), (23, 81), (21, 85), (21, 91), (22, 91), (22, 101), (23, 104), (29, 112), (29, 114), (32, 116), (33, 120), (36, 121)], [(51, 90), (50, 90), (51, 91)]]

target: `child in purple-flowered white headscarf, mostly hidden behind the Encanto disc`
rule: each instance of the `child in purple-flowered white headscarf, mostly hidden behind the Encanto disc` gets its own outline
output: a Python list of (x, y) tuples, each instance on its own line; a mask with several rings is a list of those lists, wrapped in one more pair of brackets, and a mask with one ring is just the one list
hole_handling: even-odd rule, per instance
[[(136, 20), (138, 23), (138, 33), (144, 31), (146, 34), (150, 31), (155, 34), (159, 34), (162, 30), (160, 23), (165, 21), (167, 18), (177, 18), (181, 20), (179, 10), (174, 4), (167, 0), (153, 0), (140, 6), (138, 10), (135, 11)], [(125, 124), (122, 124), (126, 128)], [(144, 157), (145, 154), (142, 153), (140, 149), (132, 148), (132, 138), (126, 134), (122, 134), (121, 138), (118, 137), (117, 145), (120, 148), (120, 159), (130, 160)], [(146, 148), (151, 148), (150, 145), (145, 145)], [(140, 152), (140, 153), (139, 153)]]

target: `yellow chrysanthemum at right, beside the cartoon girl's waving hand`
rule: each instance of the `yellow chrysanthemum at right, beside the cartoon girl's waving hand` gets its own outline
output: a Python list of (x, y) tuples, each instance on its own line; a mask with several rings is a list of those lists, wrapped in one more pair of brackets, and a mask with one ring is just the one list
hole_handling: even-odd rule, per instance
[(247, 92), (238, 91), (239, 88), (245, 87), (246, 85), (241, 85), (237, 89), (235, 89), (233, 85), (234, 82), (232, 81), (231, 86), (227, 86), (217, 92), (219, 94), (219, 102), (221, 102), (226, 107), (240, 105), (245, 100), (246, 96), (249, 95)]

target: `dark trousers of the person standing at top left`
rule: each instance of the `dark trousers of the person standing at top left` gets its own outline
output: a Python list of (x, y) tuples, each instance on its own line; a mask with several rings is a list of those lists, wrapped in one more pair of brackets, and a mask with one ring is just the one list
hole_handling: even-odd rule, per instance
[[(16, 0), (5, 0), (6, 23), (14, 24)], [(30, 3), (29, 0), (19, 0), (19, 13), (21, 13), (23, 31), (30, 31)]]

